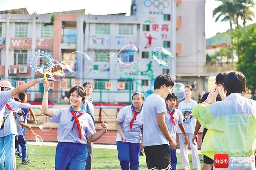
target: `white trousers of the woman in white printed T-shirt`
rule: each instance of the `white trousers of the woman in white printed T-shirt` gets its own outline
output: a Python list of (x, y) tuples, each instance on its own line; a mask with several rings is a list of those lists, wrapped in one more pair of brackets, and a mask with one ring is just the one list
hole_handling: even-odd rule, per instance
[[(185, 143), (185, 138), (183, 134), (178, 134), (180, 139), (180, 158), (181, 158), (181, 167), (183, 169), (189, 169), (189, 160), (188, 160), (188, 145)], [(192, 143), (193, 134), (188, 134), (189, 144), (192, 152), (192, 165), (195, 169), (200, 169), (201, 164), (197, 152), (197, 146)]]

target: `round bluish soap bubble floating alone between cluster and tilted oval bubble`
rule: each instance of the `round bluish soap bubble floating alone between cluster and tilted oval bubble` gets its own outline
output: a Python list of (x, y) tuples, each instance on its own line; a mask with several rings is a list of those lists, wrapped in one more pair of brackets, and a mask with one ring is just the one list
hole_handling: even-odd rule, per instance
[(117, 60), (124, 65), (131, 65), (137, 61), (138, 49), (134, 45), (126, 45), (117, 53)]

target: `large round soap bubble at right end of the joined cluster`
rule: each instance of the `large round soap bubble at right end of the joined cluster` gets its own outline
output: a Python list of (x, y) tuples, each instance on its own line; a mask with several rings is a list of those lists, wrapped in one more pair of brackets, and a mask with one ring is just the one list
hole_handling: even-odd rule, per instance
[(72, 69), (72, 72), (74, 73), (83, 74), (88, 72), (91, 68), (90, 57), (81, 51), (75, 51), (68, 54), (64, 63), (69, 65), (65, 67), (67, 74), (69, 72), (71, 73), (71, 70), (69, 69)]

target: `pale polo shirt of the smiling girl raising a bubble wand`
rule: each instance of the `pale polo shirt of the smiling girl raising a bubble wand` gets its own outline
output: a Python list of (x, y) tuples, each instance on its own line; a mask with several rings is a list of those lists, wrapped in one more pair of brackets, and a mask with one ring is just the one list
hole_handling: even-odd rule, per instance
[[(77, 113), (76, 115), (79, 115)], [(78, 117), (81, 126), (81, 140), (79, 139), (77, 124), (72, 131), (73, 121), (72, 114), (68, 108), (59, 108), (53, 110), (53, 117), (49, 117), (49, 121), (58, 123), (57, 139), (59, 142), (71, 142), (87, 144), (86, 136), (90, 137), (96, 133), (93, 119), (87, 113)]]

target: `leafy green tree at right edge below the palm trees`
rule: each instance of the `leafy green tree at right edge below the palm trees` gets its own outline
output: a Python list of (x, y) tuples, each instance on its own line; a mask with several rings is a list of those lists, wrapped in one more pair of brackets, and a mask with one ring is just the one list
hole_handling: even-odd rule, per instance
[(254, 98), (256, 90), (256, 24), (248, 26), (246, 31), (233, 31), (233, 45), (238, 55), (237, 70), (244, 73), (247, 88)]

